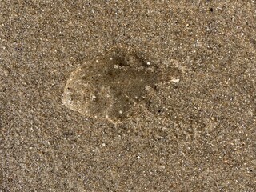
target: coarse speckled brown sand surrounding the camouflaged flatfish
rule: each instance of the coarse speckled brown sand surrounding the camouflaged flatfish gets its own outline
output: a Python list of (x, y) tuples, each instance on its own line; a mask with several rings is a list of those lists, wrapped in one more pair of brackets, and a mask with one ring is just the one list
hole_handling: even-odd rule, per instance
[[(1, 1), (0, 191), (256, 191), (255, 9)], [(166, 71), (149, 103), (118, 124), (63, 105), (71, 72), (116, 45)]]

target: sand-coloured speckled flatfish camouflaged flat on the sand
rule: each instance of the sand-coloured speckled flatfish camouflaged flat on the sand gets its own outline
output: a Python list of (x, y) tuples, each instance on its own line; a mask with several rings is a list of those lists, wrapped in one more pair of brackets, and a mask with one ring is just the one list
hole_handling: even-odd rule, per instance
[(132, 108), (148, 102), (147, 90), (155, 90), (168, 77), (138, 53), (128, 46), (114, 46), (87, 61), (70, 74), (62, 103), (88, 118), (114, 123), (133, 118)]

